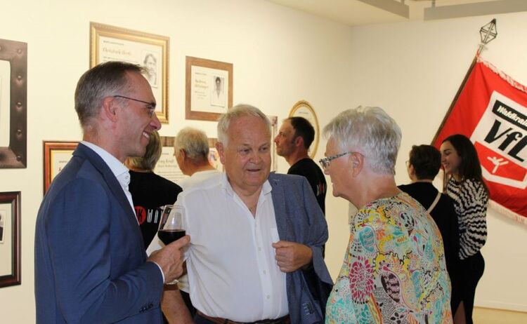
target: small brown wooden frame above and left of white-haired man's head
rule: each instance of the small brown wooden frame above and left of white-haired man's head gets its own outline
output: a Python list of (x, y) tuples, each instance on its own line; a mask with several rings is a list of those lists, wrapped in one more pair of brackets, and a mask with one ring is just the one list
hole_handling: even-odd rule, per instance
[(186, 61), (185, 118), (217, 121), (233, 107), (233, 65), (190, 56)]

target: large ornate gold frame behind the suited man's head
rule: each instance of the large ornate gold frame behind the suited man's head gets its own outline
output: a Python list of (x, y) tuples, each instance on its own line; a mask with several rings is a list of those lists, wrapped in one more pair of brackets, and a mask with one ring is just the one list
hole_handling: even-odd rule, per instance
[(169, 37), (90, 22), (90, 67), (124, 61), (145, 67), (162, 123), (169, 122)]

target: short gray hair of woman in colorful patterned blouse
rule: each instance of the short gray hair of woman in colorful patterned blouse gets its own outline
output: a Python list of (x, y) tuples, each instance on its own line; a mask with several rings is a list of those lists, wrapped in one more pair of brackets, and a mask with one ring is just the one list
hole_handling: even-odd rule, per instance
[(342, 151), (356, 150), (367, 156), (375, 173), (395, 174), (401, 128), (382, 108), (357, 107), (338, 114), (323, 130)]

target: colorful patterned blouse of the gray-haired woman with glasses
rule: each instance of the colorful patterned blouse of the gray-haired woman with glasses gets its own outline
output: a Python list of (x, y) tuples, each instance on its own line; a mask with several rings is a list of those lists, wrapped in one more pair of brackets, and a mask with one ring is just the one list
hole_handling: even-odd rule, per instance
[(326, 323), (452, 323), (441, 234), (400, 193), (365, 205), (351, 224)]

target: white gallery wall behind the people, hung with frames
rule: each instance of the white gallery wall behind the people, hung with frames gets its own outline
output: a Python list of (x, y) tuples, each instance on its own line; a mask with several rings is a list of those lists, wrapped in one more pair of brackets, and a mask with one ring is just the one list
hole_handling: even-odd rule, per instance
[[(324, 126), (341, 109), (384, 107), (403, 128), (398, 182), (415, 142), (430, 142), (464, 76), (490, 18), (408, 22), (349, 28), (260, 0), (19, 0), (2, 6), (0, 38), (28, 43), (26, 169), (0, 169), (0, 191), (22, 191), (22, 285), (0, 288), (2, 323), (34, 323), (34, 222), (42, 198), (42, 141), (80, 140), (74, 86), (89, 68), (89, 22), (170, 37), (170, 123), (161, 135), (216, 123), (185, 121), (185, 56), (231, 62), (234, 102), (283, 119), (308, 100)], [(499, 15), (498, 39), (486, 58), (527, 83), (526, 14)], [(522, 36), (523, 35), (523, 36)], [(521, 43), (523, 41), (523, 43)], [(427, 121), (427, 122), (423, 122)], [(321, 140), (316, 158), (323, 156)], [(279, 171), (287, 164), (279, 159)], [(326, 261), (337, 276), (349, 237), (348, 204), (327, 198)], [(476, 303), (527, 310), (526, 253), (516, 252), (526, 227), (489, 212), (487, 269)], [(512, 264), (511, 260), (514, 260)], [(522, 295), (523, 294), (523, 295)]]

